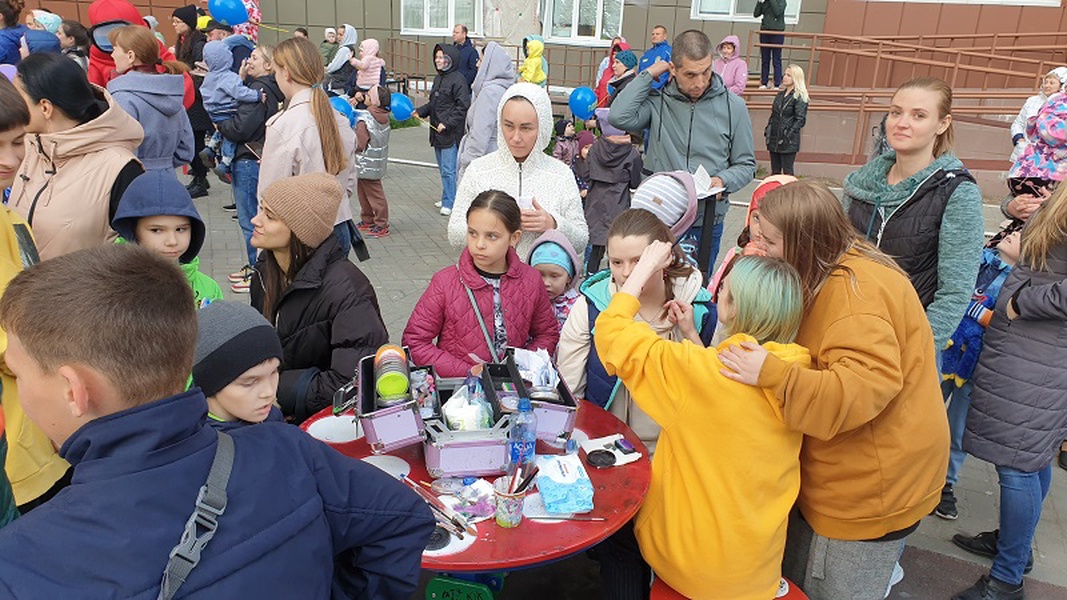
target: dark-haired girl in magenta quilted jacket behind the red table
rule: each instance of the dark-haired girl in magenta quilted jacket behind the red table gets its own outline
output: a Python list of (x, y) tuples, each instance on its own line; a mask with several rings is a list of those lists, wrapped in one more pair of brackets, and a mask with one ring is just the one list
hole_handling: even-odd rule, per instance
[(412, 360), (441, 377), (462, 377), (476, 364), (501, 362), (508, 346), (554, 353), (559, 323), (552, 301), (541, 273), (514, 250), (519, 204), (488, 190), (471, 203), (466, 221), (459, 263), (433, 275), (404, 328)]

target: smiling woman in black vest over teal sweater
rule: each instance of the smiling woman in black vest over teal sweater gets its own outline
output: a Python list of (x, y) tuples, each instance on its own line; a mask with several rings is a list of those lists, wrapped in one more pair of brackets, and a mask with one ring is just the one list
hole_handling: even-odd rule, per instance
[(940, 351), (971, 301), (985, 242), (982, 192), (952, 153), (952, 89), (901, 85), (886, 135), (891, 151), (845, 177), (845, 210), (908, 273)]

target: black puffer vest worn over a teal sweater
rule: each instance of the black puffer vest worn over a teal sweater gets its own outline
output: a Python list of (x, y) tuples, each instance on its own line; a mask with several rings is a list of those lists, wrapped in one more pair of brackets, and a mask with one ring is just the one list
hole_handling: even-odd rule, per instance
[(867, 204), (850, 199), (848, 219), (853, 226), (896, 259), (896, 264), (911, 279), (924, 309), (934, 301), (938, 288), (941, 217), (949, 199), (964, 181), (974, 183), (974, 177), (966, 169), (939, 169), (888, 217), (880, 203)]

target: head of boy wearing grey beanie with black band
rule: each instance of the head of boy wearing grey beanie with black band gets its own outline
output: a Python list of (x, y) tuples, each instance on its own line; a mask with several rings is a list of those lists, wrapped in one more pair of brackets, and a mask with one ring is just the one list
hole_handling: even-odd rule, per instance
[(207, 423), (229, 431), (283, 421), (277, 407), (282, 342), (259, 311), (237, 302), (211, 302), (196, 312), (198, 333), (193, 384), (207, 397)]

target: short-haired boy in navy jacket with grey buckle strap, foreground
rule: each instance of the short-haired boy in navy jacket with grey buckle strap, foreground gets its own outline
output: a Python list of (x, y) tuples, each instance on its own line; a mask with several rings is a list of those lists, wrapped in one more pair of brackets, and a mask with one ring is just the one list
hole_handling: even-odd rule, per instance
[(203, 393), (182, 391), (196, 311), (175, 265), (132, 246), (42, 263), (12, 280), (0, 323), (27, 415), (74, 467), (0, 530), (0, 598), (154, 599), (164, 569), (189, 598), (414, 591), (433, 530), (414, 492), (290, 425), (205, 424)]

